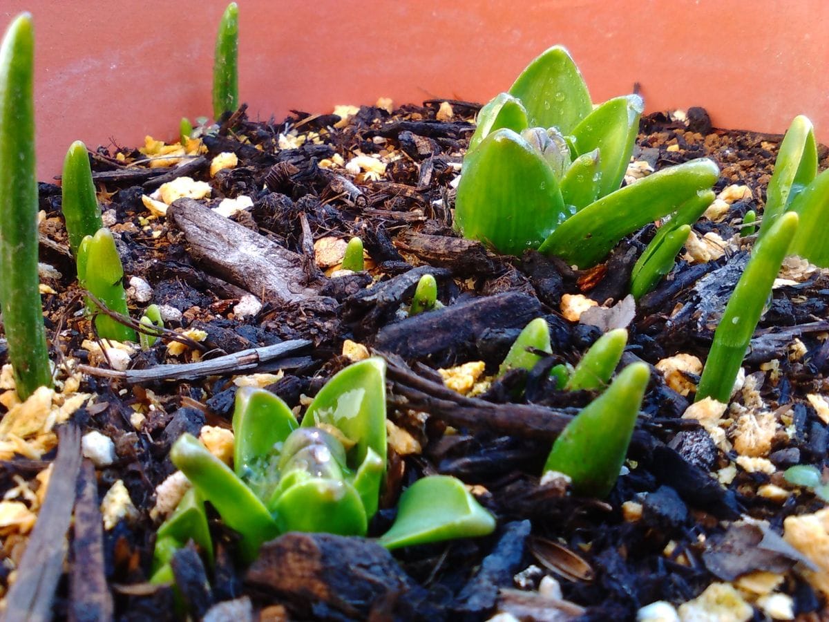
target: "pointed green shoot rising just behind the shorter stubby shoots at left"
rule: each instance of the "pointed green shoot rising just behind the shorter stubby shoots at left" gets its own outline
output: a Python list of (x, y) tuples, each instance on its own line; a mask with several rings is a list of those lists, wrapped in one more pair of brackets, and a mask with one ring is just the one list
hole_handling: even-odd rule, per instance
[(69, 234), (72, 255), (78, 256), (78, 246), (85, 236), (95, 236), (104, 226), (98, 199), (95, 197), (95, 183), (92, 182), (90, 157), (86, 145), (76, 140), (70, 145), (63, 161), (61, 176), (61, 211)]

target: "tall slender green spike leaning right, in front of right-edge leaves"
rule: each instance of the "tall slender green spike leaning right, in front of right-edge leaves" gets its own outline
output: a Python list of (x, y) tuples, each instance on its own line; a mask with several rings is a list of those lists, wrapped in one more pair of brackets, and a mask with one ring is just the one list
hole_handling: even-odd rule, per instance
[(728, 403), (739, 366), (743, 363), (754, 328), (771, 293), (774, 279), (797, 231), (797, 214), (788, 211), (780, 216), (751, 251), (749, 263), (737, 281), (734, 293), (725, 305), (714, 333), (696, 401), (712, 397)]

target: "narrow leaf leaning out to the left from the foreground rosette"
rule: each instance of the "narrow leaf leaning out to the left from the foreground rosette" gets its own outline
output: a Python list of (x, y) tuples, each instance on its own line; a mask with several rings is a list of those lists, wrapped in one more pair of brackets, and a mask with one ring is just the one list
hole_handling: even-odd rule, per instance
[(279, 535), (279, 527), (259, 498), (195, 436), (181, 435), (172, 445), (170, 459), (212, 503), (225, 524), (240, 533), (245, 561), (253, 561), (262, 542)]

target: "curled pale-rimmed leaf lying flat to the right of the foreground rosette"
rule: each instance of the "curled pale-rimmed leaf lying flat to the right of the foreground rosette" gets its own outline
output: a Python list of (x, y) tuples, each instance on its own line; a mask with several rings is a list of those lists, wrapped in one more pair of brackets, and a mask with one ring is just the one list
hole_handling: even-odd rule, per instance
[(487, 536), (495, 530), (492, 514), (463, 483), (446, 475), (419, 479), (400, 495), (397, 518), (380, 543), (389, 549)]

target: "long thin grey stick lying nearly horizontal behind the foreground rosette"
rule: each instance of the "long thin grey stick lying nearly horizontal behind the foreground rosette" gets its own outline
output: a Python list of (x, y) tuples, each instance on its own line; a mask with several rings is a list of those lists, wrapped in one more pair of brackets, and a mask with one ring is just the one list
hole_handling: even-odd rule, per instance
[(251, 371), (265, 362), (275, 362), (279, 357), (285, 357), (293, 352), (308, 347), (311, 342), (307, 339), (290, 339), (271, 346), (251, 347), (248, 350), (226, 354), (223, 357), (208, 358), (193, 363), (168, 363), (156, 365), (147, 369), (130, 369), (119, 372), (114, 369), (101, 369), (80, 365), (78, 369), (90, 376), (101, 376), (122, 380), (128, 384), (139, 382), (153, 382), (161, 380), (196, 380), (206, 376), (224, 376), (244, 371)]

